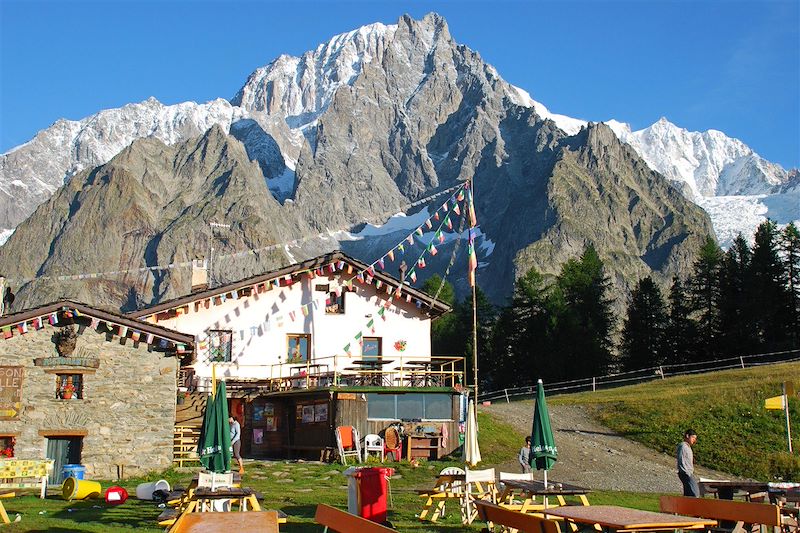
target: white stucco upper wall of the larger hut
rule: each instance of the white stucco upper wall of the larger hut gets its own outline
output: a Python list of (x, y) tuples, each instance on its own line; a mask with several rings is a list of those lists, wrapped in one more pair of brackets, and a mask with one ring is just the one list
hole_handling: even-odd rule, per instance
[[(222, 298), (209, 297), (206, 293), (188, 304), (184, 300), (177, 315), (162, 311), (149, 317), (142, 315), (142, 318), (195, 336), (197, 353), (193, 366), (201, 379), (211, 376), (209, 334), (212, 330), (232, 333), (230, 362), (215, 362), (215, 365), (217, 376), (233, 379), (291, 375), (290, 367), (297, 363), (288, 363), (290, 335), (309, 335), (310, 363), (328, 365), (326, 370), (329, 371), (342, 370), (361, 357), (358, 333), (380, 339), (381, 356), (393, 360), (386, 369), (399, 367), (402, 361), (430, 359), (431, 318), (426, 312), (427, 304), (417, 298), (406, 301), (406, 293), (393, 297), (396, 285), (387, 293), (386, 283), (378, 288), (376, 282), (353, 280), (349, 290), (345, 285), (353, 277), (352, 270), (313, 278), (306, 272), (295, 275), (294, 282), (288, 286), (262, 281), (249, 291), (239, 292), (249, 292), (249, 295), (236, 298), (230, 297), (235, 292)], [(326, 299), (337, 290), (344, 297), (344, 312), (326, 312)], [(303, 307), (309, 303), (312, 305), (306, 307), (305, 314)], [(405, 341), (404, 350), (395, 347), (397, 341)], [(348, 344), (350, 355), (345, 351)]]

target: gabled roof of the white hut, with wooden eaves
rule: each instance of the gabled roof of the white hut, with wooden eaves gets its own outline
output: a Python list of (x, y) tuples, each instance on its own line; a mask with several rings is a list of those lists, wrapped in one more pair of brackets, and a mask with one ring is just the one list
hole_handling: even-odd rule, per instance
[[(134, 318), (141, 318), (154, 315), (156, 313), (168, 311), (170, 309), (175, 309), (177, 307), (183, 307), (193, 302), (206, 300), (208, 298), (213, 298), (221, 294), (227, 294), (235, 290), (252, 287), (253, 285), (257, 285), (259, 283), (271, 282), (274, 279), (282, 278), (286, 275), (314, 270), (316, 268), (324, 267), (331, 263), (336, 263), (339, 261), (344, 261), (346, 264), (352, 265), (353, 268), (358, 272), (363, 272), (366, 271), (368, 268), (370, 268), (370, 265), (362, 263), (358, 259), (354, 259), (342, 251), (336, 250), (334, 252), (325, 255), (320, 255), (318, 257), (315, 257), (313, 259), (308, 259), (300, 263), (295, 263), (293, 265), (282, 267), (277, 270), (273, 270), (271, 272), (259, 274), (257, 276), (252, 276), (239, 281), (234, 281), (233, 283), (228, 283), (227, 285), (220, 285), (219, 287), (214, 287), (204, 291), (195, 292), (186, 296), (174, 298), (172, 300), (167, 300), (165, 302), (161, 302), (156, 305), (145, 307), (143, 309), (139, 309), (137, 311), (128, 313), (128, 316)], [(414, 287), (409, 286), (407, 283), (401, 283), (399, 279), (386, 273), (385, 271), (376, 268), (373, 277), (376, 280), (381, 280), (383, 283), (386, 283), (393, 287), (399, 287), (402, 285), (404, 293), (410, 294), (414, 299), (419, 300), (423, 304), (426, 304), (427, 313), (432, 318), (437, 318), (451, 311), (450, 306), (447, 305), (446, 303), (434, 299), (427, 293), (419, 289), (415, 289)]]

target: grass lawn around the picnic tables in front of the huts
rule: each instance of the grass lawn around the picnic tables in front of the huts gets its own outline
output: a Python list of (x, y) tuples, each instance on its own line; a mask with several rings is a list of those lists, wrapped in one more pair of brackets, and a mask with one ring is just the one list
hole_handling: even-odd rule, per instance
[[(415, 517), (421, 509), (421, 500), (414, 489), (430, 486), (435, 474), (451, 465), (459, 463), (423, 462), (418, 468), (412, 468), (407, 463), (389, 465), (396, 468), (399, 475), (391, 483), (394, 504), (389, 511), (389, 520), (398, 531), (479, 531), (484, 526), (478, 522), (470, 527), (462, 526), (455, 507), (449, 507), (445, 519), (436, 524), (420, 522)], [(264, 508), (279, 509), (289, 515), (289, 522), (281, 526), (281, 531), (319, 533), (322, 527), (314, 523), (314, 511), (318, 503), (347, 508), (347, 478), (342, 475), (344, 468), (342, 465), (317, 463), (253, 463), (248, 465), (243, 484), (264, 495)], [(191, 476), (192, 472), (168, 471), (163, 477), (172, 484), (186, 486)], [(147, 478), (148, 481), (155, 479), (158, 478)], [(133, 494), (136, 485), (142, 481), (145, 479), (132, 479), (122, 483), (122, 486), (129, 494)], [(104, 489), (111, 484), (102, 483)], [(156, 517), (162, 509), (152, 502), (135, 498), (119, 506), (107, 506), (103, 500), (66, 502), (55, 495), (46, 500), (31, 495), (3, 501), (12, 520), (16, 513), (22, 515), (19, 523), (5, 526), (3, 531), (163, 531), (156, 523)], [(658, 508), (658, 495), (654, 494), (598, 492), (590, 496), (590, 501), (641, 509)]]

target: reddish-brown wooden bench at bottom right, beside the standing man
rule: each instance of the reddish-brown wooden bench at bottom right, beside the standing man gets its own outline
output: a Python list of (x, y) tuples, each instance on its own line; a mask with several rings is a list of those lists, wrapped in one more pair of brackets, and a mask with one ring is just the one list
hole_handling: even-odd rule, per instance
[(659, 499), (659, 506), (661, 511), (665, 513), (735, 522), (733, 533), (744, 533), (745, 524), (781, 526), (780, 508), (777, 505), (766, 503), (688, 498), (686, 496), (662, 496)]

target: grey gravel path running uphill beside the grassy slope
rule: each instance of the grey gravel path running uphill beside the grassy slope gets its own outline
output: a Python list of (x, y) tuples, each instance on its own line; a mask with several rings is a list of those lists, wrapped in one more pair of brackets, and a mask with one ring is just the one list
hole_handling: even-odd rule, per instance
[[(681, 484), (671, 455), (657, 453), (625, 439), (592, 419), (581, 406), (553, 405), (550, 420), (558, 447), (558, 462), (549, 479), (584, 487), (631, 492), (678, 493)], [(530, 434), (533, 402), (497, 403), (480, 410), (505, 421), (517, 431)], [(679, 437), (676, 436), (677, 445)], [(520, 443), (522, 446), (523, 443)], [(518, 450), (517, 450), (518, 451)], [(505, 472), (519, 472), (516, 455), (498, 465)], [(729, 479), (706, 468), (696, 475)], [(540, 479), (541, 476), (537, 476)]]

